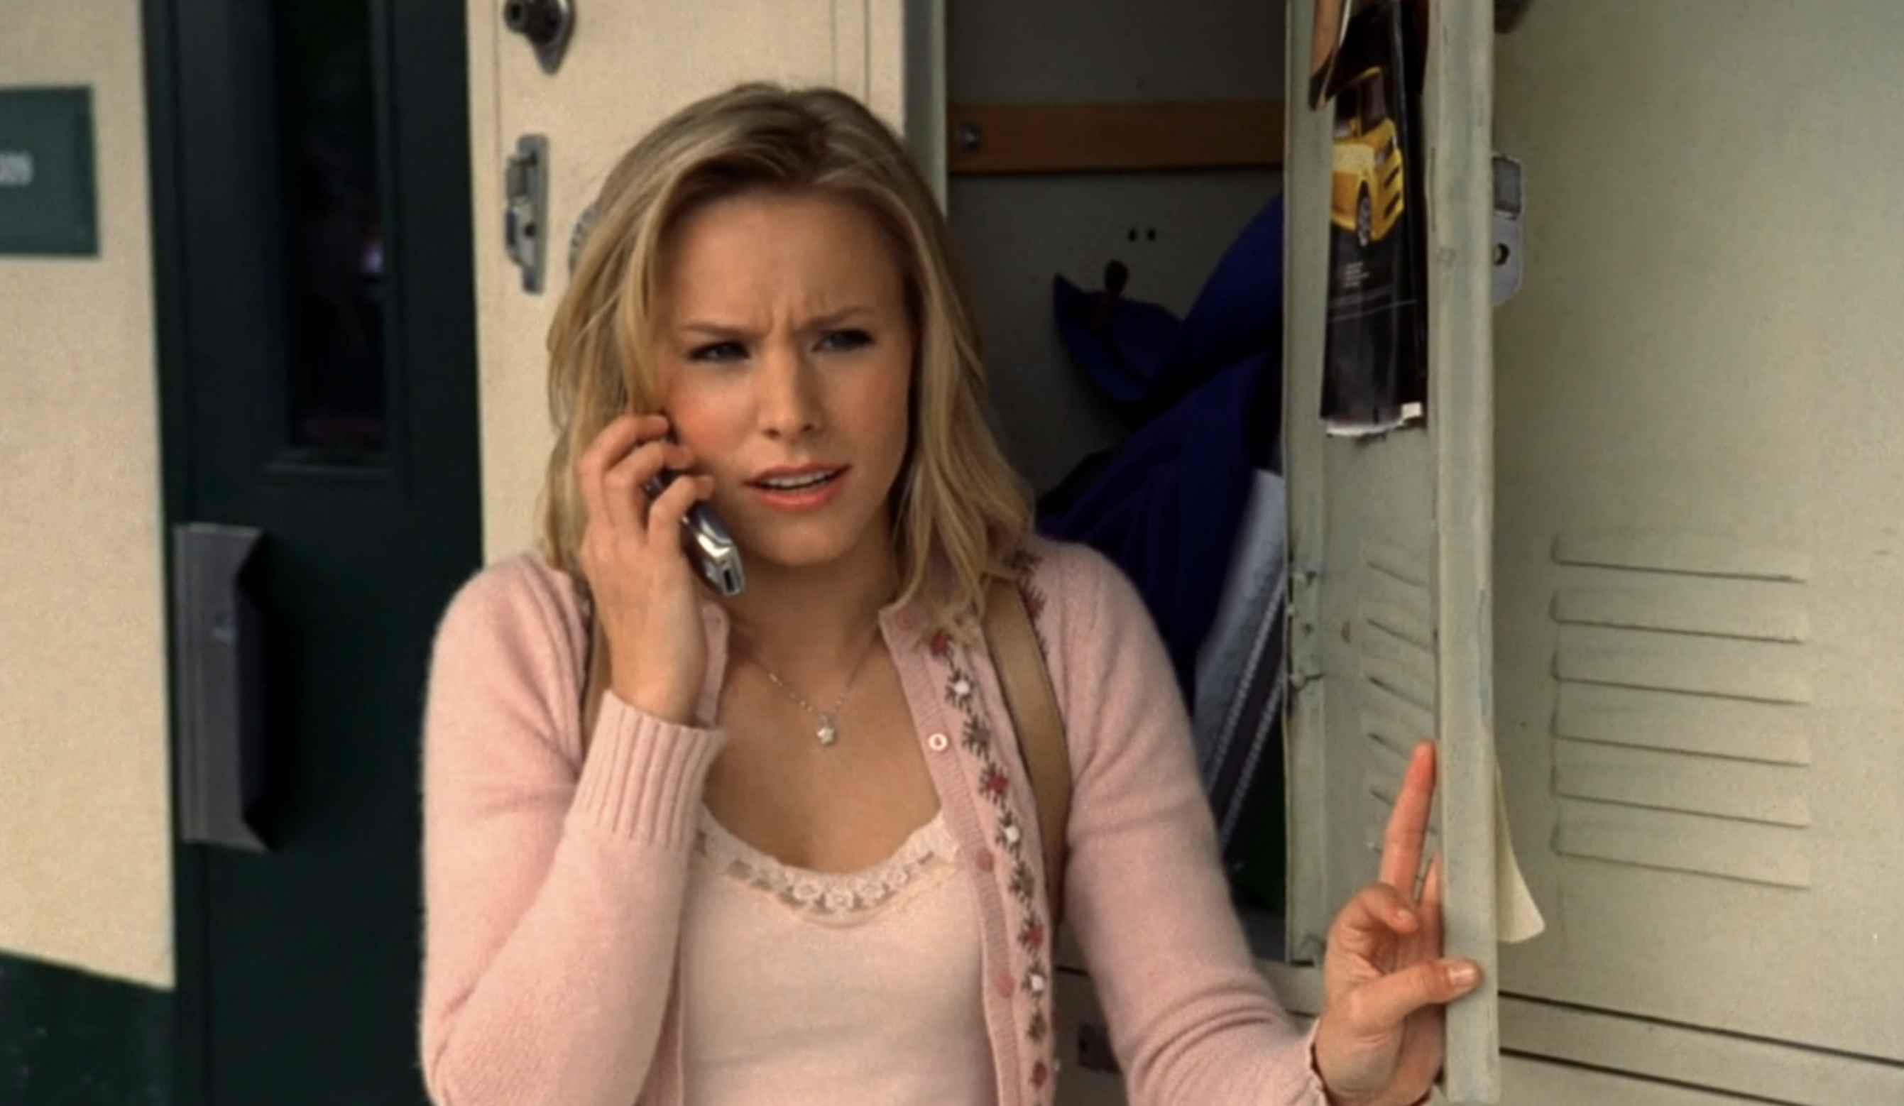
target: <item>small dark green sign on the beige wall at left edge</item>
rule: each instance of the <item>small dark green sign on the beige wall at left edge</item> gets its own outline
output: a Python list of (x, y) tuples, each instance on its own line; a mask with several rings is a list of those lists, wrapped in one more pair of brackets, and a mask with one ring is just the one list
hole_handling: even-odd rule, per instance
[(0, 88), (0, 255), (99, 255), (89, 88)]

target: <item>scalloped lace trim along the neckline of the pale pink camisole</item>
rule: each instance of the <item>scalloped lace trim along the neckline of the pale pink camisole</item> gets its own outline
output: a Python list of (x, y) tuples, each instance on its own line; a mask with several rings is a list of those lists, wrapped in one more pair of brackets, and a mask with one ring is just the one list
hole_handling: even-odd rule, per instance
[(701, 809), (699, 849), (741, 883), (802, 914), (834, 919), (885, 906), (931, 868), (958, 857), (942, 813), (914, 830), (897, 853), (859, 872), (811, 872), (783, 864), (737, 838), (706, 807)]

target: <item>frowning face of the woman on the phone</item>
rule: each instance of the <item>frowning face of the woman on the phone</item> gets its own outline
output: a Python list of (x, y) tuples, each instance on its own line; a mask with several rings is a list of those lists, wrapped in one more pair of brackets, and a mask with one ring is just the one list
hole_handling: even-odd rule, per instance
[(914, 333), (870, 215), (817, 192), (695, 209), (668, 236), (653, 327), (663, 411), (750, 569), (889, 556)]

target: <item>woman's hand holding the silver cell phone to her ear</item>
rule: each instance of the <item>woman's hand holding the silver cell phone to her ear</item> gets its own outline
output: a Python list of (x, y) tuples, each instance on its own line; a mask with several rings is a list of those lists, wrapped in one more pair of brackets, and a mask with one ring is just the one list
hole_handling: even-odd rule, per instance
[(685, 470), (693, 453), (668, 440), (663, 415), (623, 415), (575, 463), (588, 523), (583, 575), (607, 640), (609, 687), (655, 718), (693, 721), (706, 674), (701, 596), (682, 552), (682, 518), (714, 491), (712, 476), (682, 476), (649, 499), (663, 468)]

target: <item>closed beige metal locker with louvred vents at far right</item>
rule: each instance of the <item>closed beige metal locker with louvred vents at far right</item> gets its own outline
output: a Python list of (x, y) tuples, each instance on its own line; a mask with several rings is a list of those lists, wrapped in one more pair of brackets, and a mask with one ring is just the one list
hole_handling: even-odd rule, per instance
[[(1497, 666), (1552, 931), (1502, 1045), (1904, 1102), (1894, 4), (1537, 4), (1498, 42)], [(1879, 246), (1883, 244), (1883, 246)]]

